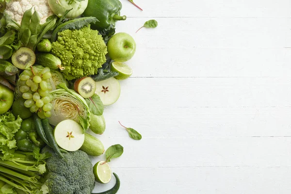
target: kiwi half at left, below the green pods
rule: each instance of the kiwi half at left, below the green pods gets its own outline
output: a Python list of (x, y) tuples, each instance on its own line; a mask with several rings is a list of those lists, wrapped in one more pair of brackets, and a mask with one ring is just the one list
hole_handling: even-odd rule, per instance
[(12, 55), (12, 63), (19, 69), (26, 69), (35, 62), (35, 54), (31, 49), (21, 47)]

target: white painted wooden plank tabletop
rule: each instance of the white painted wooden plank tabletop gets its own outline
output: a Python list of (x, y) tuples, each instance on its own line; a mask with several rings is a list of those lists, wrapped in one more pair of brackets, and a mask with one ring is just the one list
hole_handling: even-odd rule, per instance
[[(97, 136), (124, 146), (118, 194), (290, 194), (291, 1), (121, 2), (134, 73)], [(158, 28), (135, 33), (149, 19)]]

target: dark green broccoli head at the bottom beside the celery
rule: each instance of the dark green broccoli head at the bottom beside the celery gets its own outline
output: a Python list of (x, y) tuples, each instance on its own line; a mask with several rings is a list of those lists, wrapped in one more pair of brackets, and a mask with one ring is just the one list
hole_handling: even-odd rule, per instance
[(46, 160), (48, 175), (45, 184), (49, 194), (91, 194), (95, 186), (93, 167), (88, 155), (77, 150), (60, 158), (49, 146), (42, 153), (52, 154)]

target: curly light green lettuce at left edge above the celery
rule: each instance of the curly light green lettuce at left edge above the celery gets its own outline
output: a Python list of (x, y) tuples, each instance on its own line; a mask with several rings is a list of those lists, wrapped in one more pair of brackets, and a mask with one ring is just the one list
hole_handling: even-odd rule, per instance
[(7, 160), (13, 157), (16, 150), (15, 133), (21, 126), (22, 119), (17, 119), (11, 112), (0, 115), (0, 159)]

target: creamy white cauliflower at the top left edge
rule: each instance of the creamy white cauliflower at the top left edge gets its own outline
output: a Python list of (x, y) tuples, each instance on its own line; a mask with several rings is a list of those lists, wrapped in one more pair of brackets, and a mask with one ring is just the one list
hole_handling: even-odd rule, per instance
[(5, 12), (20, 25), (24, 12), (32, 6), (38, 12), (41, 24), (46, 23), (47, 17), (53, 15), (48, 0), (11, 0), (6, 4)]

